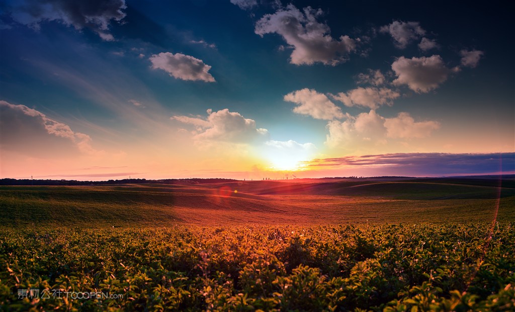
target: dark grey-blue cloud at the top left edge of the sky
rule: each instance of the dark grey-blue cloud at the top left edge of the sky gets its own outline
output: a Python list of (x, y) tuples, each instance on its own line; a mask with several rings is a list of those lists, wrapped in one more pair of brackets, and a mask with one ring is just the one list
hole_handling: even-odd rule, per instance
[(125, 0), (40, 0), (15, 2), (12, 8), (14, 21), (33, 29), (43, 22), (57, 21), (77, 30), (91, 29), (105, 41), (113, 41), (109, 33), (111, 21), (125, 18)]

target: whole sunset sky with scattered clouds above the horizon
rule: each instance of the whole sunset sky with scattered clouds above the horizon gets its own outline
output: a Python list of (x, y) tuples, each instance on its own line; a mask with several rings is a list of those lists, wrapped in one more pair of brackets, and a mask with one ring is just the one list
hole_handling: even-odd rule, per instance
[(0, 178), (513, 174), (501, 4), (3, 1)]

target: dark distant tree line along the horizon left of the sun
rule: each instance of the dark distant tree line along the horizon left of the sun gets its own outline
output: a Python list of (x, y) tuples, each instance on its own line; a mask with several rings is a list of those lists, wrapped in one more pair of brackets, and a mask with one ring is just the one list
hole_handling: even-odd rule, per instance
[(107, 181), (79, 181), (79, 180), (51, 180), (51, 179), (0, 179), (0, 185), (106, 185), (106, 184), (203, 184), (203, 183), (222, 183), (222, 182), (236, 182), (235, 179), (225, 178), (190, 178), (190, 179), (160, 179), (160, 180), (147, 180), (147, 179), (121, 179), (121, 180), (107, 180)]

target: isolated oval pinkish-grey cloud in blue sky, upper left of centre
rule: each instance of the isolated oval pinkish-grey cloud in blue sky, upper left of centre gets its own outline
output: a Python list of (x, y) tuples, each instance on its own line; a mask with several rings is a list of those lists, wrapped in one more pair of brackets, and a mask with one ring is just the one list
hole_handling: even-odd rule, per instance
[(215, 81), (209, 73), (211, 66), (190, 55), (165, 52), (153, 54), (149, 60), (152, 62), (152, 69), (162, 69), (177, 79), (202, 80), (207, 83)]

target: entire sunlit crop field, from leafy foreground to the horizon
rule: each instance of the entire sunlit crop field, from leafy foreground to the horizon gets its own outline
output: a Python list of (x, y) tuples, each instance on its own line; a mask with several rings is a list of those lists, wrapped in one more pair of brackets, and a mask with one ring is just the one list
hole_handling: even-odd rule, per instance
[(0, 188), (0, 309), (508, 311), (512, 180)]

